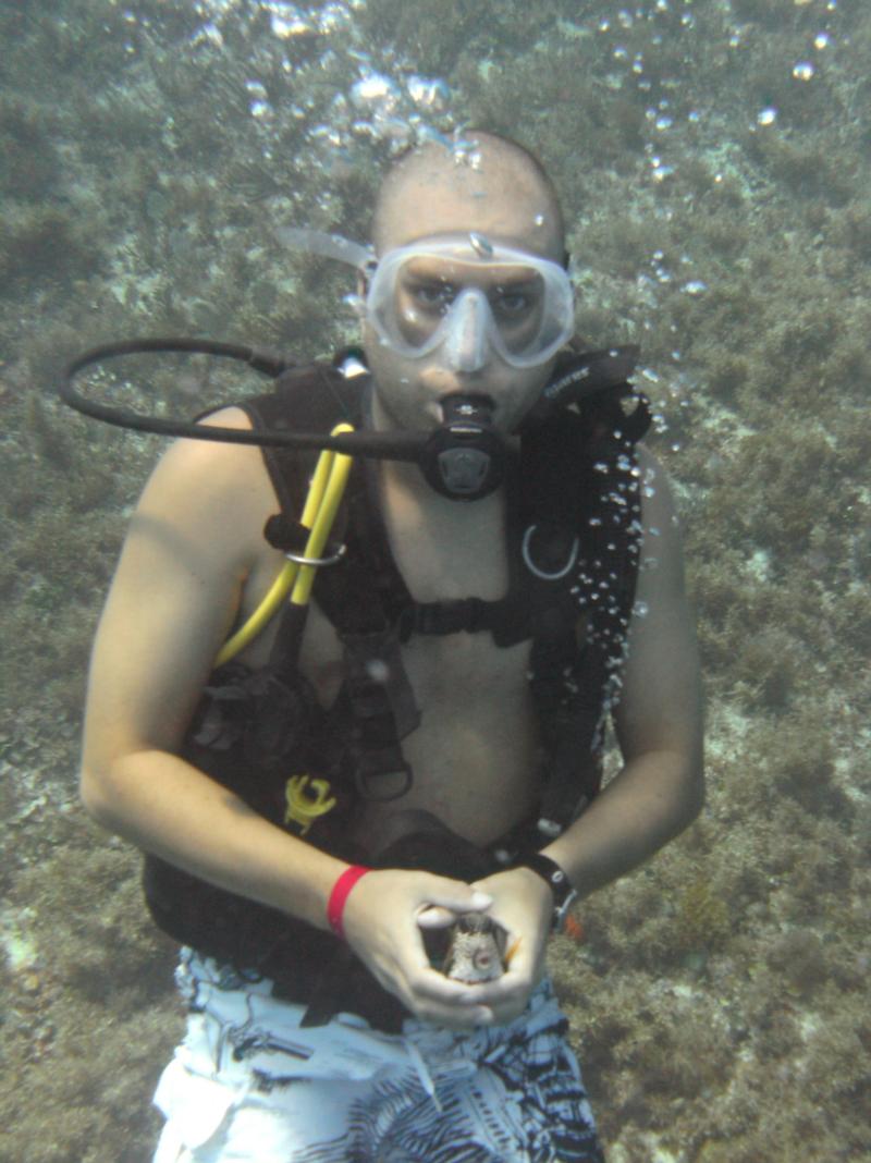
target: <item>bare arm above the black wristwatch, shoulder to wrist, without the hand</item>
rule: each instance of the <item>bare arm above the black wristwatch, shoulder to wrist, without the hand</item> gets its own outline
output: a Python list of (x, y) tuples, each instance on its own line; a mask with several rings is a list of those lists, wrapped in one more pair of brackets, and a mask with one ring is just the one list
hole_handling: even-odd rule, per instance
[(683, 556), (665, 475), (656, 473), (643, 507), (637, 608), (629, 636), (622, 699), (615, 715), (624, 766), (590, 808), (544, 851), (581, 897), (630, 871), (683, 832), (704, 801), (702, 714)]

